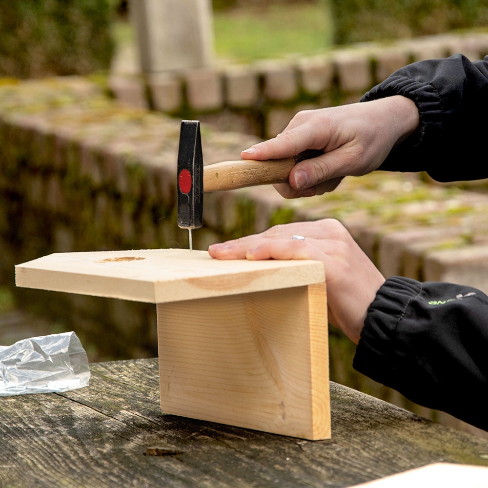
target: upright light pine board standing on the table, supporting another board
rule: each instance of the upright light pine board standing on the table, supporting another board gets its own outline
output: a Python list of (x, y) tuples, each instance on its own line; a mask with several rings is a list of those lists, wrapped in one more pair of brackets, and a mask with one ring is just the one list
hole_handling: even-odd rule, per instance
[(325, 284), (157, 310), (164, 412), (330, 437)]

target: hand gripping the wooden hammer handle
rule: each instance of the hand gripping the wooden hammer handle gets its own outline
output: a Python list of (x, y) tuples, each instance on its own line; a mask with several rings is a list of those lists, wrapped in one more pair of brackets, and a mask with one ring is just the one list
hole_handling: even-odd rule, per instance
[(281, 134), (246, 149), (241, 157), (262, 161), (323, 149), (324, 155), (295, 165), (289, 183), (275, 185), (285, 198), (321, 195), (334, 190), (347, 175), (377, 169), (418, 124), (415, 103), (400, 95), (306, 110), (295, 115)]

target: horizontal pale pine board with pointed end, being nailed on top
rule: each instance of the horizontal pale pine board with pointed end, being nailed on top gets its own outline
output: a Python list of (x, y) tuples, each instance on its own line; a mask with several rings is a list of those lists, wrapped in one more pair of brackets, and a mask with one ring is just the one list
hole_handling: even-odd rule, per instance
[(218, 261), (206, 251), (57, 253), (16, 267), (17, 286), (168, 303), (323, 283), (316, 261)]

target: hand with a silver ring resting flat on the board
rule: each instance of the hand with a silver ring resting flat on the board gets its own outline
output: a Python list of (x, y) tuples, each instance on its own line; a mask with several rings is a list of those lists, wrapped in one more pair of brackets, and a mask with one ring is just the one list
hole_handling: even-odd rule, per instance
[[(305, 240), (292, 239), (301, 235)], [(215, 259), (312, 259), (325, 266), (328, 318), (359, 342), (369, 305), (385, 278), (338, 221), (276, 225), (261, 234), (212, 244)]]

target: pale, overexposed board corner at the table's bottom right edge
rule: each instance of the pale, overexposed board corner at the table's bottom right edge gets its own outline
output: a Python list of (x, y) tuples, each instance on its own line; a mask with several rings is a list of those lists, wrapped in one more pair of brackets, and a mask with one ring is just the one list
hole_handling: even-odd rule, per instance
[(354, 488), (487, 488), (488, 468), (436, 463)]

